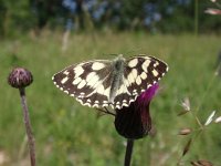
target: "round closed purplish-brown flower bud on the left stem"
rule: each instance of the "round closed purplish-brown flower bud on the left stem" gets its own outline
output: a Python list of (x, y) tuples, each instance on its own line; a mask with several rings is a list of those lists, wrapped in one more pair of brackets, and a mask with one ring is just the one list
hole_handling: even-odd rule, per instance
[(8, 77), (8, 83), (15, 89), (29, 86), (33, 81), (30, 71), (23, 68), (15, 68), (11, 71)]

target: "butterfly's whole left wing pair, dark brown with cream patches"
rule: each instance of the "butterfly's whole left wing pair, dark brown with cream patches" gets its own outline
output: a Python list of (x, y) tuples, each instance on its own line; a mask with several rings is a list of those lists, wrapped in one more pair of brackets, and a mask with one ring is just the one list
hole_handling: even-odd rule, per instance
[(90, 61), (71, 65), (54, 74), (52, 80), (60, 90), (74, 96), (81, 104), (102, 107), (108, 105), (110, 71), (110, 61)]

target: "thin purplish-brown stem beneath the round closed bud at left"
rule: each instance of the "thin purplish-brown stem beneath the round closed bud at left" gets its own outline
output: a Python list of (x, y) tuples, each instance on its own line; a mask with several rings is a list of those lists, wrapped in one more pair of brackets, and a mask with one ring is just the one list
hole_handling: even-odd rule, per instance
[(29, 118), (29, 110), (25, 100), (25, 91), (24, 89), (19, 89), (20, 95), (21, 95), (21, 104), (23, 108), (23, 118), (24, 118), (24, 125), (27, 129), (27, 136), (29, 142), (29, 153), (31, 158), (31, 166), (35, 166), (35, 146), (34, 146), (34, 137), (31, 129), (31, 123)]

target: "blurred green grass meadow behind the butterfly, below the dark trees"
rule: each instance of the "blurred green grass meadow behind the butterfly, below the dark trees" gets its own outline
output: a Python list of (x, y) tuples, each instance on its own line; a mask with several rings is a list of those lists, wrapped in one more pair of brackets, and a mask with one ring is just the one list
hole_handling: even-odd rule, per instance
[[(29, 69), (34, 82), (27, 89), (31, 123), (40, 166), (123, 165), (125, 139), (114, 127), (114, 118), (97, 117), (56, 89), (51, 76), (63, 68), (91, 59), (113, 59), (147, 53), (166, 61), (170, 70), (160, 81), (161, 91), (150, 105), (155, 136), (135, 143), (134, 166), (176, 165), (188, 136), (178, 136), (181, 127), (197, 127), (191, 114), (177, 116), (180, 102), (190, 98), (192, 111), (202, 123), (209, 114), (220, 112), (221, 84), (214, 76), (220, 37), (190, 34), (147, 35), (146, 33), (72, 34), (65, 52), (62, 35), (44, 32), (40, 38), (20, 37), (0, 41), (0, 152), (8, 165), (29, 165), (19, 92), (7, 83), (13, 66)], [(221, 163), (220, 124), (211, 124), (193, 142), (182, 158)], [(4, 164), (7, 165), (7, 164)]]

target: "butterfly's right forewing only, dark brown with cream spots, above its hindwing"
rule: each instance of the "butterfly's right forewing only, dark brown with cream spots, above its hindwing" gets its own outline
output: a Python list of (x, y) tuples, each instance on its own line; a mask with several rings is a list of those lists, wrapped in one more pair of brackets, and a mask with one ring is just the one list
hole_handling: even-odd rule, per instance
[(168, 70), (167, 64), (162, 61), (146, 55), (128, 59), (127, 64), (125, 76), (130, 83), (128, 90), (134, 94), (140, 94), (158, 82)]

